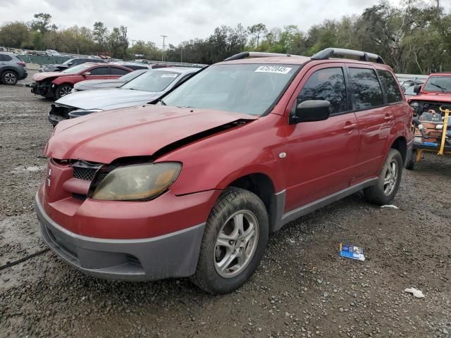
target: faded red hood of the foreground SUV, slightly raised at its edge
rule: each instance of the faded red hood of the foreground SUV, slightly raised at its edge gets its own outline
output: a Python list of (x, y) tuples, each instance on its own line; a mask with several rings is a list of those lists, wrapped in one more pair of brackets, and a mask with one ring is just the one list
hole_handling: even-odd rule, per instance
[(49, 139), (49, 158), (111, 163), (150, 156), (164, 146), (206, 130), (256, 116), (197, 108), (138, 106), (65, 120)]

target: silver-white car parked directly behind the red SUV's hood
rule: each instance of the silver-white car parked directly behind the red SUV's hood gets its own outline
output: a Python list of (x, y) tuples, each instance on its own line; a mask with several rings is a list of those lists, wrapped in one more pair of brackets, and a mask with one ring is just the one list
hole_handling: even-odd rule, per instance
[(158, 68), (142, 73), (119, 88), (86, 90), (63, 96), (51, 105), (49, 121), (56, 125), (68, 118), (147, 104), (159, 99), (199, 70), (200, 68)]

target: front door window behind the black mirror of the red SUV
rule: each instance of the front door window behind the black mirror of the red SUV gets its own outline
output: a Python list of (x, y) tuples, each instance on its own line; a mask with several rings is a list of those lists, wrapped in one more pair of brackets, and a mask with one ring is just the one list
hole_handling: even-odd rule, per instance
[(310, 75), (297, 96), (297, 104), (307, 100), (329, 101), (332, 113), (347, 111), (345, 75), (342, 68), (325, 68)]

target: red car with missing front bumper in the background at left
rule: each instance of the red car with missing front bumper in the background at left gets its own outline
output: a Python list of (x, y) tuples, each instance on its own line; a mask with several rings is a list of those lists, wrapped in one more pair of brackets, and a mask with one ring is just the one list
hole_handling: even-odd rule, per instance
[(122, 65), (108, 63), (82, 63), (62, 72), (45, 72), (33, 75), (30, 84), (31, 92), (51, 99), (59, 99), (67, 95), (73, 85), (85, 80), (117, 79), (122, 75), (130, 73), (132, 69)]

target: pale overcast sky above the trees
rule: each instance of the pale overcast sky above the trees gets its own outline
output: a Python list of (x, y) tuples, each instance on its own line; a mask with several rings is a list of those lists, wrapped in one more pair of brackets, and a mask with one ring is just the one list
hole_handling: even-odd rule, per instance
[[(399, 4), (402, 0), (391, 0)], [(434, 2), (435, 0), (424, 0)], [(403, 1), (405, 2), (405, 1)], [(308, 30), (325, 19), (362, 13), (378, 0), (0, 0), (0, 24), (29, 21), (34, 13), (50, 13), (53, 23), (66, 28), (92, 27), (101, 21), (111, 30), (128, 27), (129, 39), (162, 44), (160, 35), (168, 35), (166, 44), (178, 44), (195, 37), (208, 37), (218, 25), (244, 27), (265, 23), (272, 27), (297, 25)], [(451, 0), (441, 0), (447, 10)]]

